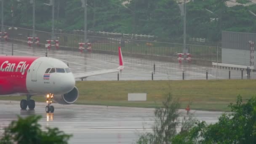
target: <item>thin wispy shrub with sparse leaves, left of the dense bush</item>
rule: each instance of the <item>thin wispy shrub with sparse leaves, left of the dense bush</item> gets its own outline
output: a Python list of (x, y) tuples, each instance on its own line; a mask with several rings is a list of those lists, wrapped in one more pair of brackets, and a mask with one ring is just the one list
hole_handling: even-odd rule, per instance
[(153, 133), (144, 133), (139, 137), (137, 144), (169, 144), (176, 134), (176, 128), (181, 124), (181, 132), (185, 133), (196, 120), (189, 115), (184, 117), (180, 123), (179, 117), (180, 103), (178, 99), (173, 99), (171, 93), (168, 94), (166, 100), (163, 101), (163, 107), (155, 109), (155, 125), (152, 127)]

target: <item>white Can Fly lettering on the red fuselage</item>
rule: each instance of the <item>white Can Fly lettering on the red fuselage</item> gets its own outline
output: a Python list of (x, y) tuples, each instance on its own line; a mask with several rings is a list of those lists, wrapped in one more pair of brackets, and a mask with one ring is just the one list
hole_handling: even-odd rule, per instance
[(16, 67), (16, 63), (9, 63), (9, 61), (4, 61), (1, 64), (0, 70), (2, 72), (21, 72), (21, 75), (24, 75), (29, 64), (26, 64), (27, 61), (20, 61)]

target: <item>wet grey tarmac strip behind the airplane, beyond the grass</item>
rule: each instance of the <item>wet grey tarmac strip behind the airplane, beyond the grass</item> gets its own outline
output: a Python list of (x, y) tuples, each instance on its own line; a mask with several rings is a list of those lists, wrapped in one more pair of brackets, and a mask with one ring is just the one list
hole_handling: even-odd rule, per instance
[[(45, 56), (46, 48), (29, 48), (27, 45), (14, 45), (14, 55), (19, 56)], [(0, 44), (0, 54), (11, 55), (11, 44)], [(48, 56), (60, 59), (69, 64), (73, 73), (90, 72), (102, 69), (113, 69), (119, 65), (119, 59), (116, 55), (107, 55), (99, 53), (80, 53), (77, 51), (57, 51), (52, 48), (48, 51)], [(163, 62), (147, 59), (138, 59), (124, 56), (125, 69), (120, 73), (120, 80), (151, 80), (153, 67), (155, 64), (154, 80), (182, 80), (184, 71), (185, 80), (206, 79), (228, 79), (229, 71), (227, 69), (216, 69), (212, 67), (202, 67), (193, 64), (177, 62)], [(246, 72), (243, 72), (246, 78)], [(254, 78), (255, 72), (251, 74)], [(240, 79), (241, 72), (231, 70), (231, 79)], [(97, 75), (88, 77), (85, 80), (117, 80), (117, 73)]]

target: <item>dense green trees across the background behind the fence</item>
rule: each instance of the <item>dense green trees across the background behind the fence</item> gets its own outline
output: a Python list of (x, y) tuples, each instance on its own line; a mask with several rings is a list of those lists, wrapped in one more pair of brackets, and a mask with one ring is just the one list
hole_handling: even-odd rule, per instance
[[(155, 35), (159, 41), (182, 39), (183, 19), (176, 0), (88, 0), (88, 30)], [(219, 41), (221, 30), (256, 32), (256, 5), (227, 7), (227, 0), (192, 0), (187, 3), (188, 37), (205, 37)], [(11, 4), (14, 5), (14, 25), (32, 28), (30, 0), (5, 0), (5, 25), (12, 25)], [(51, 30), (51, 7), (45, 0), (36, 0), (36, 29)], [(55, 0), (56, 29), (83, 29), (84, 13), (80, 0)], [(212, 11), (209, 13), (205, 10)]]

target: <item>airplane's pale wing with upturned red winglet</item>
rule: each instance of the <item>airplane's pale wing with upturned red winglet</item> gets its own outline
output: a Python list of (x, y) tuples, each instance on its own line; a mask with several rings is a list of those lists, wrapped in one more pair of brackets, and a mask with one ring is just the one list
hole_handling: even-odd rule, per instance
[(116, 69), (105, 69), (105, 70), (98, 70), (98, 71), (92, 71), (92, 72), (77, 73), (77, 74), (74, 74), (75, 79), (83, 80), (84, 78), (89, 76), (102, 75), (102, 74), (121, 71), (124, 68), (124, 63), (123, 63), (123, 54), (120, 47), (118, 48), (118, 54), (119, 54), (119, 67), (117, 67)]

